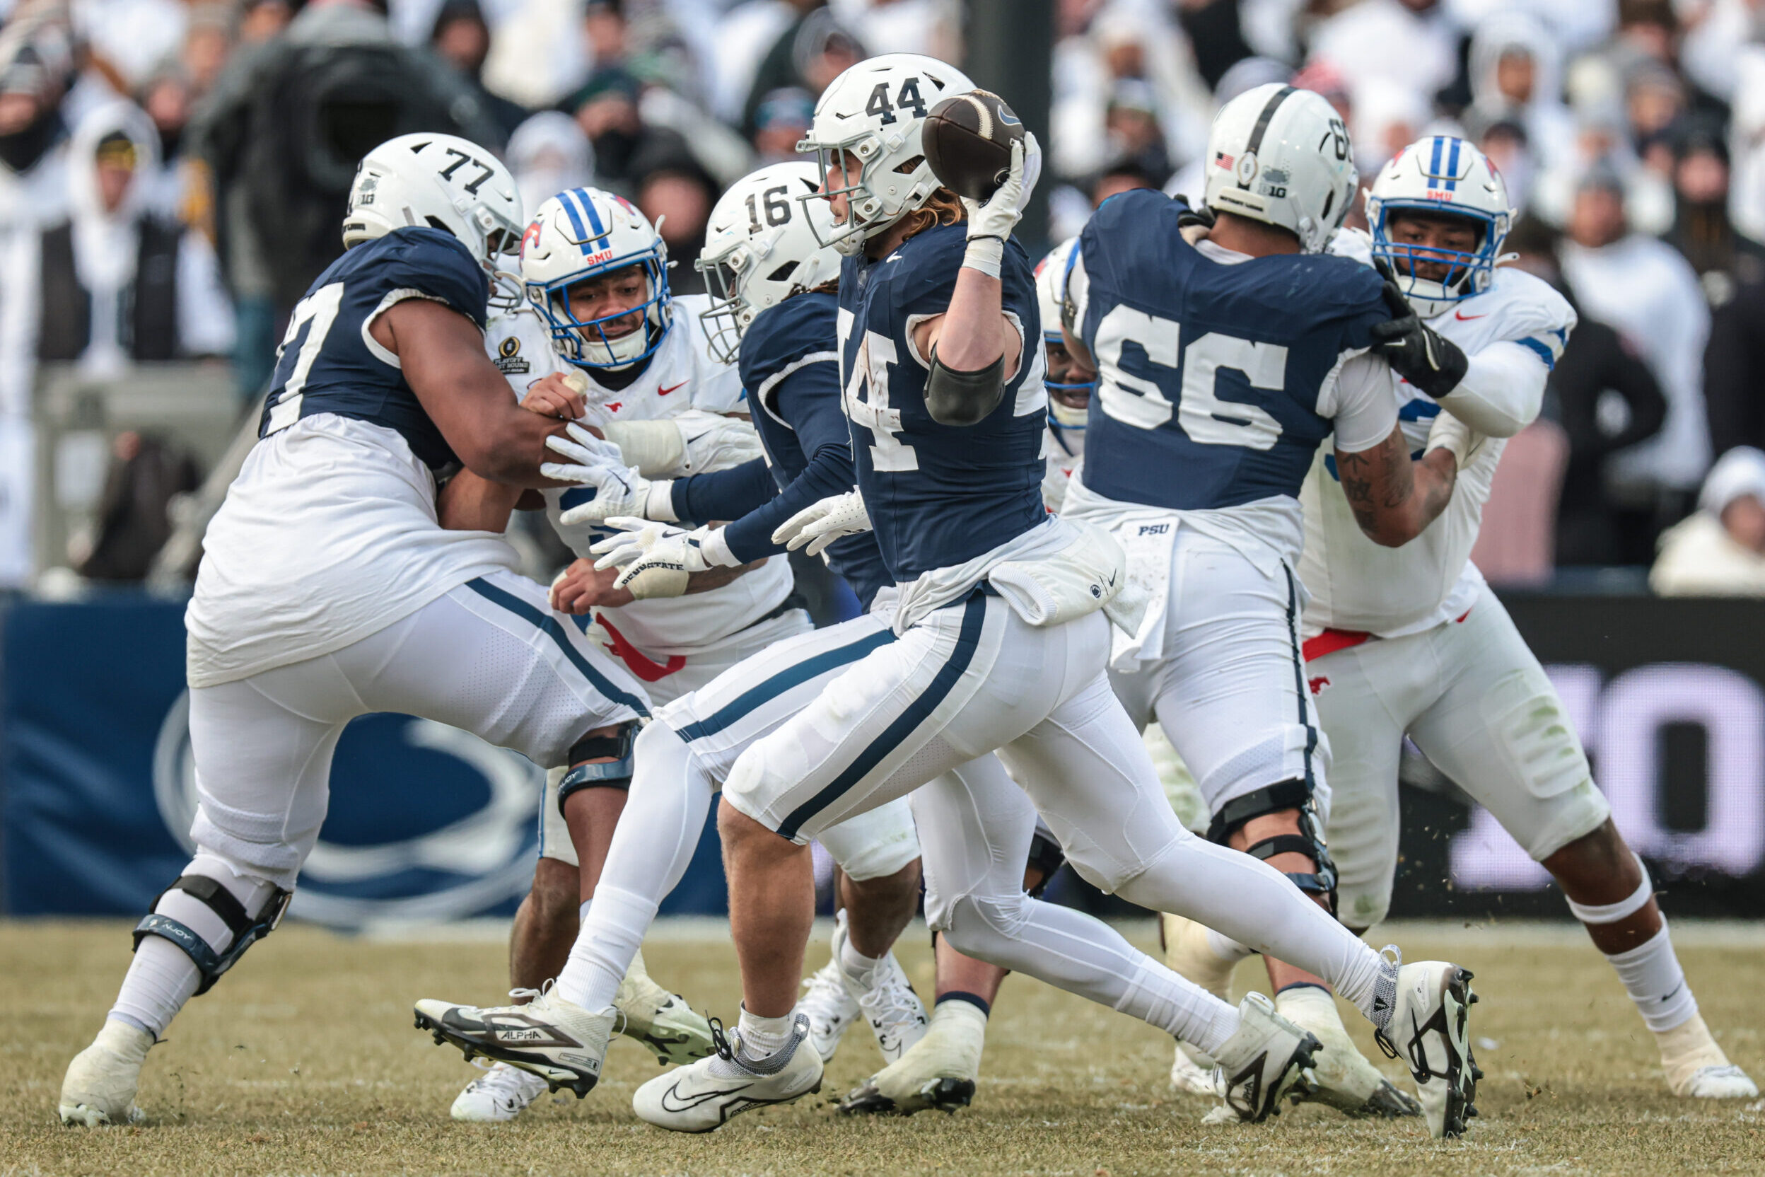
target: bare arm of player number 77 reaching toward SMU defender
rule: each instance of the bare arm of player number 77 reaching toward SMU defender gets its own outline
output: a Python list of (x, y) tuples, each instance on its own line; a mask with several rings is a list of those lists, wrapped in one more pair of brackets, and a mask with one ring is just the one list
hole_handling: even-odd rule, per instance
[(540, 475), (545, 438), (565, 422), (522, 409), (484, 355), (484, 332), (429, 298), (406, 298), (369, 328), (399, 356), (404, 379), (466, 469), (517, 487), (567, 485)]

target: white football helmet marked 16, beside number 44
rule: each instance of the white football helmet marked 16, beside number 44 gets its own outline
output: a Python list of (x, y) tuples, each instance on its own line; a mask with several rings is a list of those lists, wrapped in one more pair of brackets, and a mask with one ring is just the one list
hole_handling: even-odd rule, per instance
[(748, 323), (791, 295), (840, 277), (840, 254), (821, 242), (835, 231), (821, 191), (821, 169), (807, 159), (747, 175), (711, 210), (704, 249), (710, 309), (699, 314), (711, 355), (736, 362)]

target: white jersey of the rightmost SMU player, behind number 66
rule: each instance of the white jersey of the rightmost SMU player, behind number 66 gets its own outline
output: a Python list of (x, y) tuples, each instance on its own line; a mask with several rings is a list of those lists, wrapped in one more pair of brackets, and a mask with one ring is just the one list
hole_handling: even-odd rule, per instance
[[(1456, 304), (1428, 325), (1467, 356), (1491, 344), (1514, 342), (1536, 351), (1548, 371), (1562, 355), (1574, 321), (1574, 311), (1546, 282), (1502, 266), (1490, 289)], [(1398, 390), (1405, 397), (1400, 411), (1403, 436), (1410, 452), (1419, 455), (1442, 409), (1408, 381), (1400, 381)], [(1490, 501), (1504, 446), (1502, 438), (1486, 439), (1458, 471), (1453, 499), (1440, 517), (1403, 547), (1380, 547), (1366, 538), (1341, 492), (1334, 455), (1326, 446), (1311, 462), (1299, 496), (1306, 517), (1299, 579), (1311, 593), (1304, 612), (1306, 633), (1329, 628), (1401, 637), (1470, 609), (1483, 586), (1483, 574), (1470, 563), (1470, 549), (1477, 542), (1483, 505)]]

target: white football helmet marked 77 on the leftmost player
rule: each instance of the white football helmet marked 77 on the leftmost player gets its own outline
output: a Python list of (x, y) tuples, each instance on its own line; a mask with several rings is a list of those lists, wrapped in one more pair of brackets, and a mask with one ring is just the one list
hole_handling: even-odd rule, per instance
[(457, 236), (494, 274), (521, 244), (521, 192), (496, 155), (452, 134), (401, 134), (357, 164), (342, 247), (425, 224)]

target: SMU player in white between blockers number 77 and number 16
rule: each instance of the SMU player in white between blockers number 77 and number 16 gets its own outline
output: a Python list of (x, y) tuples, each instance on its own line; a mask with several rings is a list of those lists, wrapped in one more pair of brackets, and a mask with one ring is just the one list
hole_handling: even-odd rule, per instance
[[(598, 189), (561, 192), (540, 206), (522, 242), (528, 311), (499, 316), (489, 332), (492, 355), (505, 362), (531, 356), (528, 367), (538, 365), (544, 376), (530, 381), (531, 371), (510, 372), (517, 395), (556, 392), (560, 381), (545, 376), (554, 369), (581, 372), (574, 383), (588, 390), (584, 420), (618, 445), (614, 457), (623, 455), (605, 461), (605, 448), (581, 427), (572, 431), (581, 452), (563, 446), (593, 473), (586, 487), (547, 492), (545, 508), (579, 556), (590, 556), (590, 547), (609, 535), (602, 526), (609, 515), (648, 510), (678, 519), (676, 498), (683, 510), (692, 510), (687, 491), (695, 480), (688, 475), (718, 471), (701, 473), (697, 482), (740, 484), (743, 459), (759, 450), (732, 356), (718, 348), (708, 353), (706, 335), (695, 330), (706, 298), (671, 296), (665, 266), (662, 238), (628, 201)], [(814, 498), (819, 494), (808, 501)], [(512, 505), (512, 491), (503, 501)], [(727, 498), (713, 492), (711, 501), (724, 505)], [(480, 526), (499, 529), (501, 519)], [(554, 584), (552, 600), (584, 623), (593, 611), (590, 632), (646, 683), (657, 706), (810, 628), (791, 591), (784, 556), (762, 552), (710, 568), (695, 577), (692, 595), (672, 598), (637, 600), (614, 588), (614, 577), (616, 572), (597, 574), (591, 559), (579, 559)], [(579, 905), (588, 909), (614, 824), (621, 821), (628, 761), (623, 773), (581, 776), (560, 780), (554, 773), (549, 782), (535, 889), (517, 912), (510, 953), (519, 992), (537, 992), (563, 969)], [(925, 1027), (925, 1011), (890, 953), (913, 918), (920, 891), (911, 813), (902, 805), (831, 835), (830, 843), (849, 879), (852, 937), (879, 958), (872, 962), (875, 983), (861, 992), (877, 1006), (872, 1022), (888, 1048)], [(711, 1052), (704, 1018), (644, 974), (641, 953), (612, 1004), (623, 1015), (621, 1031), (662, 1061), (683, 1062)], [(847, 1013), (835, 1022), (837, 1029), (844, 1031), (849, 1020)], [(498, 1062), (461, 1092), (454, 1117), (512, 1119), (545, 1085), (530, 1071)]]

